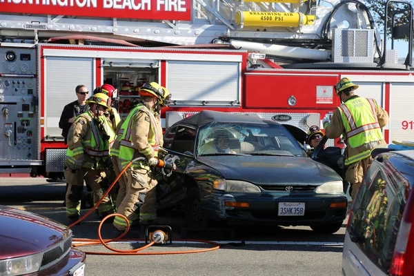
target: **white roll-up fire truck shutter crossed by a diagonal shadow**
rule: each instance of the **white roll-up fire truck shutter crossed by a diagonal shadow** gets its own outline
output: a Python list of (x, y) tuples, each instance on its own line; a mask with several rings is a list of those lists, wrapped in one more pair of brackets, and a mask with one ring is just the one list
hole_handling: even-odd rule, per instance
[(241, 65), (231, 61), (168, 61), (168, 90), (177, 106), (239, 106)]

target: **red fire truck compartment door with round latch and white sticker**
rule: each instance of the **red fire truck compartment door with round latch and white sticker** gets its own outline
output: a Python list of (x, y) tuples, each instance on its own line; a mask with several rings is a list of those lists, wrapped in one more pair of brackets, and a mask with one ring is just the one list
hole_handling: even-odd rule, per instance
[(335, 74), (246, 73), (247, 108), (336, 108)]

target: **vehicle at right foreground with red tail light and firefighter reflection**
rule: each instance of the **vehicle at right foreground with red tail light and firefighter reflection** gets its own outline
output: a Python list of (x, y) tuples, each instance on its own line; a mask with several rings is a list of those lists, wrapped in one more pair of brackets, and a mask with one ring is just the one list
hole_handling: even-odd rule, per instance
[[(388, 152), (384, 152), (388, 151)], [(414, 275), (414, 150), (377, 155), (349, 215), (343, 275)]]

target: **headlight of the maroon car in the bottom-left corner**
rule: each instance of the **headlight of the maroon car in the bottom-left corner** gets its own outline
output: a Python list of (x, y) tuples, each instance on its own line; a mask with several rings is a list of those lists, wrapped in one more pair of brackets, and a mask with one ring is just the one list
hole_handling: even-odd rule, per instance
[(0, 261), (0, 276), (23, 275), (37, 272), (41, 266), (43, 253)]

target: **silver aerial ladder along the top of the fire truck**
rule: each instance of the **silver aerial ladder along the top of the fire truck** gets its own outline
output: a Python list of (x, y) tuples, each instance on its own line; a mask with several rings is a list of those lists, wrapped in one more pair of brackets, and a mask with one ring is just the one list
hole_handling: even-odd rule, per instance
[(337, 5), (342, 4), (337, 0), (318, 4), (315, 0), (193, 0), (190, 21), (5, 13), (0, 17), (0, 37), (33, 39), (36, 33), (41, 39), (89, 34), (175, 45), (220, 43), (230, 39), (284, 45), (313, 41), (315, 47), (315, 41), (324, 38), (326, 20), (331, 28), (344, 28), (344, 24), (348, 28), (369, 28), (366, 12), (355, 3), (347, 2), (331, 17)]

